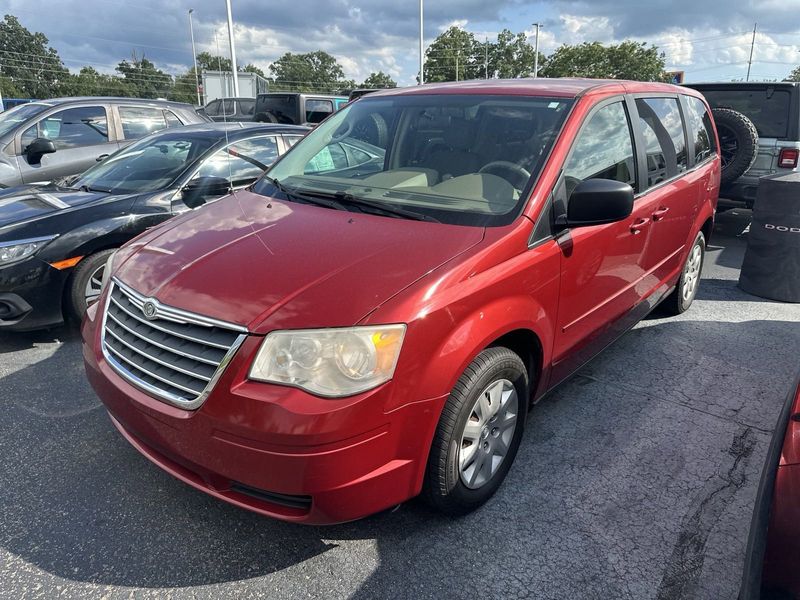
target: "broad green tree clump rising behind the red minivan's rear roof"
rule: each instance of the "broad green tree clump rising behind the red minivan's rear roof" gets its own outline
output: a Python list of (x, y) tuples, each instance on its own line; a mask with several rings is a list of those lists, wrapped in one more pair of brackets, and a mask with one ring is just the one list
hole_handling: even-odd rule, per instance
[(664, 81), (664, 54), (644, 42), (625, 41), (604, 46), (600, 42), (563, 45), (547, 57), (542, 77), (592, 77)]

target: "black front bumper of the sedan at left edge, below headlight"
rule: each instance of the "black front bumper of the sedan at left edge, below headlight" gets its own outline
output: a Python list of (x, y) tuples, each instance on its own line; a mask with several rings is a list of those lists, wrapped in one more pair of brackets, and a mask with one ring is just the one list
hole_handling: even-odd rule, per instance
[(71, 270), (36, 257), (0, 267), (0, 331), (30, 331), (64, 321), (62, 299)]

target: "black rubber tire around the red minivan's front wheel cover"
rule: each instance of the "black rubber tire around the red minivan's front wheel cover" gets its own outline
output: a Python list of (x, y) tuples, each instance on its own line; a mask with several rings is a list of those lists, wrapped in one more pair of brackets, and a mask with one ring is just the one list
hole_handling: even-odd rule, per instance
[[(516, 410), (514, 431), (497, 471), (477, 489), (470, 488), (462, 480), (459, 465), (462, 436), (480, 396), (493, 382), (501, 380), (510, 382), (516, 391), (516, 407), (511, 407)], [(528, 409), (529, 389), (525, 364), (508, 348), (487, 348), (470, 363), (450, 393), (436, 427), (422, 491), (428, 504), (445, 514), (458, 516), (475, 510), (492, 497), (517, 454)], [(508, 403), (511, 402), (509, 398)], [(484, 443), (482, 440), (486, 438), (478, 439)], [(480, 452), (479, 445), (475, 455)], [(492, 456), (494, 454), (489, 454), (490, 461)]]

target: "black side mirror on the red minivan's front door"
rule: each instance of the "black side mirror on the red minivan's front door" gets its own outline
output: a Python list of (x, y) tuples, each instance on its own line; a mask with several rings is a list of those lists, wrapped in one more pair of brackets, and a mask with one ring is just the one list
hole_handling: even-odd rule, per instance
[(556, 219), (561, 227), (616, 223), (633, 211), (633, 188), (613, 179), (586, 179), (570, 194), (567, 214)]

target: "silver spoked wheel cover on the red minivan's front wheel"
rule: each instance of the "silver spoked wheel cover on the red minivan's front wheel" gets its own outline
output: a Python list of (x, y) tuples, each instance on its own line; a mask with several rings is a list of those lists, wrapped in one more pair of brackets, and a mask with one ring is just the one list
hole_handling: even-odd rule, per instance
[(468, 488), (486, 485), (503, 464), (517, 428), (518, 404), (508, 379), (493, 381), (475, 401), (458, 447), (458, 471)]

